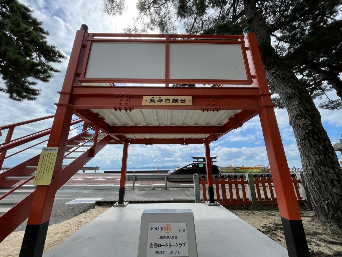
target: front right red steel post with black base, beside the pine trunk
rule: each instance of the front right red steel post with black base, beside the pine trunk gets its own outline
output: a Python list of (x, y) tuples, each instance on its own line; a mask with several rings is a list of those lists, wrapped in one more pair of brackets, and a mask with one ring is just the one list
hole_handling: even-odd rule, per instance
[(247, 58), (252, 75), (253, 86), (260, 89), (260, 107), (258, 109), (261, 128), (264, 135), (269, 166), (277, 196), (279, 213), (289, 257), (310, 257), (297, 199), (288, 170), (288, 164), (282, 145), (278, 123), (272, 99), (269, 96), (266, 75), (261, 61), (257, 38), (254, 33), (245, 36)]

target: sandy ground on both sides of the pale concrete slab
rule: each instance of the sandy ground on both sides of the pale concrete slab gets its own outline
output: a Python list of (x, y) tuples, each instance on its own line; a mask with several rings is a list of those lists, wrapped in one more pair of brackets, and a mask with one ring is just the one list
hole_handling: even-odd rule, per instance
[[(84, 212), (70, 220), (49, 226), (44, 253), (95, 219), (108, 208), (97, 206), (95, 209)], [(259, 211), (234, 209), (231, 211), (254, 228), (286, 247), (277, 209), (262, 209)], [(301, 215), (311, 256), (342, 257), (342, 237), (330, 235), (327, 229), (313, 218), (313, 211), (302, 210)], [(24, 231), (13, 232), (0, 243), (0, 256), (18, 256), (23, 235)]]

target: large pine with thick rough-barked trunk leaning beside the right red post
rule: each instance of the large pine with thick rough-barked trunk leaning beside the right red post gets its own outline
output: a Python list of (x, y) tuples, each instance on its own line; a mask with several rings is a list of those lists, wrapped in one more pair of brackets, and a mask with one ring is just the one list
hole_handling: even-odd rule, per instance
[[(331, 30), (331, 24), (340, 22), (341, 3), (341, 0), (139, 0), (140, 16), (136, 19), (144, 25), (142, 31), (158, 28), (160, 33), (177, 33), (178, 24), (189, 34), (241, 34), (242, 27), (247, 24), (252, 27), (269, 87), (288, 111), (315, 214), (330, 229), (342, 228), (342, 174), (308, 84), (310, 79), (317, 79), (317, 74), (321, 83), (331, 82), (324, 80), (325, 74), (314, 71), (312, 62), (296, 59), (299, 57), (296, 51), (312, 55), (316, 62), (320, 60), (321, 66), (316, 68), (340, 74), (342, 59), (340, 50), (335, 51), (334, 47), (340, 46), (341, 40), (337, 38), (332, 44), (327, 41), (321, 49), (308, 42), (311, 37), (319, 38), (317, 33), (322, 29)], [(129, 30), (139, 32), (138, 25)], [(329, 63), (330, 53), (337, 57)], [(337, 69), (329, 70), (331, 67)], [(295, 73), (301, 72), (312, 72), (316, 78), (299, 80)], [(313, 90), (319, 95), (317, 89)]]

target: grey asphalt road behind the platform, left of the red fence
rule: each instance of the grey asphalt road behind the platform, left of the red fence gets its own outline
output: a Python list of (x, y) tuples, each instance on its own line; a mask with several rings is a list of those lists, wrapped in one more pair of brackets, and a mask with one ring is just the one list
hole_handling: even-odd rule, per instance
[[(80, 213), (86, 212), (95, 207), (95, 201), (100, 199), (106, 199), (109, 201), (117, 201), (119, 196), (119, 174), (103, 174), (103, 173), (86, 173), (75, 174), (64, 186), (62, 186), (57, 192), (53, 204), (50, 225), (58, 224), (70, 218), (73, 218)], [(126, 182), (128, 187), (131, 187), (132, 181)], [(129, 192), (133, 194), (133, 198), (148, 199), (149, 197), (160, 198), (158, 191), (165, 195), (165, 192), (160, 191), (161, 187), (164, 187), (164, 181), (136, 181), (136, 187), (140, 187), (140, 191)], [(154, 185), (156, 190), (151, 190), (151, 186)], [(172, 187), (186, 187), (181, 193), (181, 197), (193, 197), (185, 191), (192, 190), (193, 184), (191, 182), (168, 182), (168, 186)], [(173, 191), (169, 191), (168, 199), (172, 200), (177, 198), (180, 192), (175, 190), (181, 188), (172, 188)], [(0, 189), (0, 194), (3, 194), (8, 189)], [(18, 189), (14, 194), (5, 197), (0, 202), (0, 215), (11, 208), (15, 203), (23, 199), (27, 194), (34, 190), (33, 181), (27, 183), (22, 188)], [(127, 189), (131, 190), (131, 189)], [(190, 192), (193, 194), (193, 191)], [(126, 194), (127, 195), (127, 194)], [(139, 198), (140, 197), (140, 198)], [(180, 197), (180, 198), (181, 198)], [(90, 199), (89, 203), (69, 203), (75, 199)], [(126, 199), (126, 198), (125, 198)], [(23, 222), (15, 231), (25, 230), (27, 220)]]

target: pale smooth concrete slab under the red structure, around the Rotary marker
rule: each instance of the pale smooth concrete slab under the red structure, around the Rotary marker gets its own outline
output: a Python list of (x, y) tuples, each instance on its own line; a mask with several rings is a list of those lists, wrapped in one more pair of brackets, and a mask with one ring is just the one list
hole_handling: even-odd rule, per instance
[(222, 206), (129, 204), (110, 208), (44, 257), (136, 257), (145, 209), (191, 209), (199, 257), (288, 257), (287, 250)]

